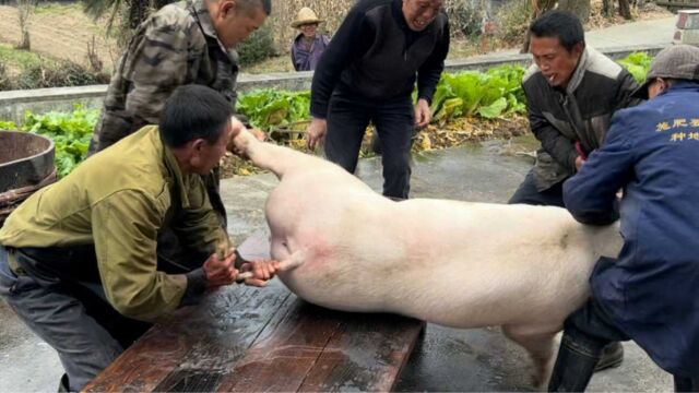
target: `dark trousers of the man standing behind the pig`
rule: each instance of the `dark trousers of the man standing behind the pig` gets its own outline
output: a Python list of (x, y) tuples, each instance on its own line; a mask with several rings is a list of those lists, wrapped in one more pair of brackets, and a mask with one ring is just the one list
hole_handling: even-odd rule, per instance
[(383, 164), (383, 195), (407, 199), (415, 112), (411, 97), (371, 102), (343, 92), (330, 99), (325, 157), (354, 172), (369, 121), (376, 126)]

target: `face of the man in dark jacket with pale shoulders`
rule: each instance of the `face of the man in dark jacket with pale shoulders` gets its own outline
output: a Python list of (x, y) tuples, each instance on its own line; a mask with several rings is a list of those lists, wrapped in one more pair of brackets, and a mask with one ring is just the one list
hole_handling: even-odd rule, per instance
[(542, 70), (548, 84), (552, 87), (562, 88), (568, 86), (583, 50), (584, 44), (579, 43), (568, 51), (560, 45), (558, 37), (532, 36), (530, 46), (534, 62)]

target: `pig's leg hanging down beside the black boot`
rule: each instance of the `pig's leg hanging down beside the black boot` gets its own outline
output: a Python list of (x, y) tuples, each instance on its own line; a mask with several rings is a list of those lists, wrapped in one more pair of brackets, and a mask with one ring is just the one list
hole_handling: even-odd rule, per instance
[(502, 332), (510, 340), (529, 352), (534, 362), (534, 385), (543, 388), (550, 378), (554, 354), (556, 352), (556, 334), (560, 329), (532, 329), (532, 326), (508, 325)]

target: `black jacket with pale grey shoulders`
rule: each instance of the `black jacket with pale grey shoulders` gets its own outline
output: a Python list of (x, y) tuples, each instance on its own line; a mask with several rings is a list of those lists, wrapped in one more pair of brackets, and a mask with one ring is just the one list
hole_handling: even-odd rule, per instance
[(576, 172), (576, 142), (588, 153), (599, 148), (614, 111), (639, 103), (631, 98), (638, 87), (633, 76), (592, 48), (584, 50), (565, 92), (552, 87), (535, 64), (522, 86), (530, 127), (542, 142), (534, 168), (540, 191)]

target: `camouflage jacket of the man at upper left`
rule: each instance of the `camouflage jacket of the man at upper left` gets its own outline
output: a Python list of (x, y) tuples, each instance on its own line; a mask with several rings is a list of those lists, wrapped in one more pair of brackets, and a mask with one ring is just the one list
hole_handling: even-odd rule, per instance
[(216, 35), (203, 0), (168, 4), (143, 22), (111, 78), (91, 153), (145, 124), (157, 124), (165, 100), (185, 84), (202, 84), (236, 104), (238, 55)]

